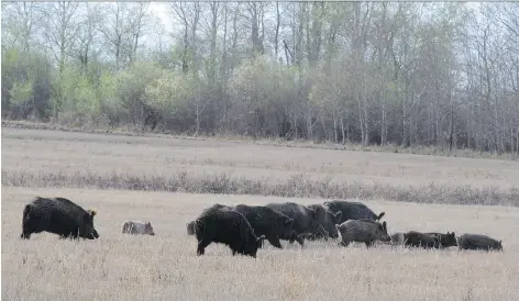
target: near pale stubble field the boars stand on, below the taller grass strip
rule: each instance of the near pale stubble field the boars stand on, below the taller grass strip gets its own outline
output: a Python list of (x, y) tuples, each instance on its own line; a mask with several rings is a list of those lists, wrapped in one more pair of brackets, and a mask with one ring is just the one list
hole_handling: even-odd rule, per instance
[[(52, 234), (19, 238), (23, 205), (36, 196), (96, 208), (97, 241)], [(336, 242), (232, 257), (221, 245), (196, 256), (186, 222), (214, 202), (285, 199), (82, 189), (2, 188), (2, 300), (517, 300), (519, 209), (366, 201), (386, 211), (390, 232), (486, 233), (504, 253), (408, 250)], [(156, 236), (120, 234), (126, 219), (150, 220)], [(286, 246), (287, 244), (284, 243)]]

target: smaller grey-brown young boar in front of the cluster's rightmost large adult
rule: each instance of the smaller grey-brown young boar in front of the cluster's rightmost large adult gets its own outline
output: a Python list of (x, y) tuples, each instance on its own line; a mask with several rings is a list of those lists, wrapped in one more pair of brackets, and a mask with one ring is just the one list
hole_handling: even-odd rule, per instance
[(379, 223), (372, 220), (350, 220), (341, 225), (335, 225), (341, 235), (340, 246), (349, 246), (352, 242), (366, 244), (368, 248), (374, 242), (389, 242), (386, 222)]

